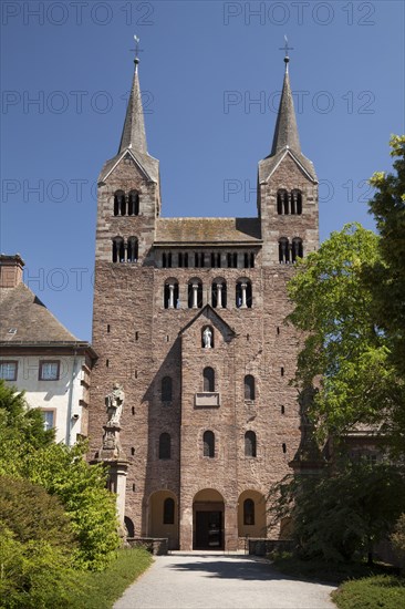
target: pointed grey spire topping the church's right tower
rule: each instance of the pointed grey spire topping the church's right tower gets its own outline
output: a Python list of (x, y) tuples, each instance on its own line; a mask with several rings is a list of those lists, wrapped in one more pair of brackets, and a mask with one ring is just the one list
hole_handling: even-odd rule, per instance
[(279, 106), (279, 113), (277, 116), (273, 144), (271, 147), (270, 156), (273, 156), (283, 148), (291, 148), (295, 153), (301, 152), (300, 138), (298, 135), (294, 102), (292, 99), (289, 76), (289, 61), (287, 52), (289, 50), (285, 40), (285, 73), (284, 83), (282, 85), (282, 93)]

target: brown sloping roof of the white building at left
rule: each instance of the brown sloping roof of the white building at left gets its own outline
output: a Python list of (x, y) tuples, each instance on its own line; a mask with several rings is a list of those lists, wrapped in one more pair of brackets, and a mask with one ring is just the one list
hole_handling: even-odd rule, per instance
[(80, 342), (24, 283), (0, 289), (0, 342)]

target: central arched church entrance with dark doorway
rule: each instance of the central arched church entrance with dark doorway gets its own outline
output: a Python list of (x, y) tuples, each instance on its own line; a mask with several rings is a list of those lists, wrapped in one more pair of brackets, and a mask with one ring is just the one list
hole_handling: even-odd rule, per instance
[(193, 502), (193, 549), (224, 549), (224, 497), (214, 488), (199, 491)]

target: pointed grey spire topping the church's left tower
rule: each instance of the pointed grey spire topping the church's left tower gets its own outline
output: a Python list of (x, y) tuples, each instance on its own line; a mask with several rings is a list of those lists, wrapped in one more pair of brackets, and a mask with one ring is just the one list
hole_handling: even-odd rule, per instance
[(123, 134), (121, 136), (120, 151), (123, 152), (125, 148), (132, 148), (134, 152), (139, 152), (147, 154), (146, 146), (146, 133), (145, 133), (145, 120), (144, 120), (144, 110), (142, 107), (142, 97), (141, 97), (141, 86), (139, 86), (139, 76), (138, 76), (138, 42), (139, 39), (135, 38), (136, 43), (136, 55), (135, 55), (135, 70), (134, 70), (134, 80), (132, 83), (132, 90), (129, 94), (128, 105), (126, 109), (125, 123), (123, 128)]

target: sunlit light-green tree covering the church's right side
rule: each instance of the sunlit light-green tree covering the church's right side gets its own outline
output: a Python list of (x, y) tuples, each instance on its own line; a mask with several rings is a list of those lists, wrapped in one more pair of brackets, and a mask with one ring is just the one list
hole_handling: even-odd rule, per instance
[(378, 241), (361, 225), (346, 225), (300, 260), (289, 282), (294, 309), (288, 321), (303, 331), (295, 380), (301, 390), (316, 385), (308, 414), (322, 440), (360, 423), (386, 432), (403, 403), (404, 385), (364, 278), (365, 266), (381, 259)]

